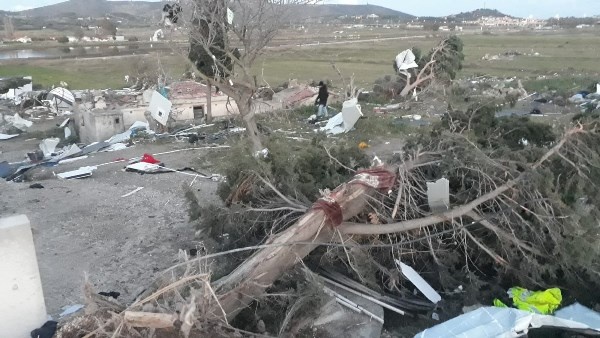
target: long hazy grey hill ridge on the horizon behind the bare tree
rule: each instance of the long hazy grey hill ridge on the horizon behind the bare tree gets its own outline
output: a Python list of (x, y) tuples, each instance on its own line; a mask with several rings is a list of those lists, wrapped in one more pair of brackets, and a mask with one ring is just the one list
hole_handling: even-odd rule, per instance
[[(102, 17), (111, 15), (132, 15), (152, 17), (160, 15), (164, 3), (148, 1), (107, 1), (107, 0), (69, 0), (54, 5), (38, 7), (18, 12), (28, 17)], [(375, 5), (312, 5), (298, 8), (294, 13), (299, 18), (320, 18), (340, 16), (366, 16), (376, 14), (380, 17), (398, 17), (411, 19), (413, 16), (389, 8)]]

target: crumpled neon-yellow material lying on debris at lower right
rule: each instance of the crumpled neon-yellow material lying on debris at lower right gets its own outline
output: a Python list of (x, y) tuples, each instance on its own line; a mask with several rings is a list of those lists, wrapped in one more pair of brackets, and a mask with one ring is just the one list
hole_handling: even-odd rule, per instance
[(558, 288), (546, 291), (529, 291), (514, 287), (508, 290), (508, 295), (512, 297), (513, 305), (517, 309), (544, 315), (552, 314), (562, 302), (562, 294)]

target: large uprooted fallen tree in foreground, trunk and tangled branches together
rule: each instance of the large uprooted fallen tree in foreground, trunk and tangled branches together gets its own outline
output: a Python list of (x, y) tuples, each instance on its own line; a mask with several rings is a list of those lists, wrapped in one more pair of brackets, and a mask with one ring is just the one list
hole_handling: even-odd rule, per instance
[[(176, 267), (185, 268), (184, 273), (175, 267), (168, 270), (163, 274), (170, 276), (168, 282), (163, 280), (151, 287), (141, 300), (117, 319), (111, 319), (112, 323), (121, 321), (128, 325), (129, 321), (140, 325), (146, 321), (146, 327), (168, 325), (172, 320), (169, 313), (153, 317), (139, 313), (140, 307), (175, 292), (187, 304), (187, 319), (179, 317), (180, 322), (187, 323), (186, 332), (231, 329), (232, 319), (249, 304), (260, 302), (286, 271), (318, 247), (332, 244), (332, 248), (339, 248), (338, 258), (347, 262), (346, 273), (360, 278), (366, 265), (373, 265), (388, 278), (385, 287), (389, 290), (401, 288), (402, 280), (391, 272), (395, 269), (392, 262), (400, 258), (397, 250), (413, 252), (404, 256), (404, 261), (412, 260), (423, 267), (433, 262), (440, 280), (444, 271), (463, 260), (469, 279), (485, 277), (472, 268), (491, 265), (498, 278), (516, 276), (523, 285), (563, 283), (568, 287), (579, 282), (582, 290), (590, 288), (594, 282), (586, 276), (598, 274), (597, 255), (580, 256), (575, 247), (584, 252), (598, 250), (594, 246), (597, 234), (594, 237), (590, 232), (597, 223), (585, 218), (589, 210), (579, 215), (576, 211), (586, 205), (580, 199), (591, 197), (597, 188), (573, 190), (573, 185), (595, 185), (589, 176), (596, 173), (600, 163), (596, 125), (575, 125), (556, 140), (529, 134), (529, 146), (508, 142), (507, 148), (500, 146), (506, 140), (504, 128), (518, 130), (523, 136), (533, 127), (530, 122), (498, 122), (473, 116), (477, 113), (452, 112), (431, 134), (410, 140), (398, 165), (358, 171), (353, 179), (332, 192), (323, 191), (322, 198), (295, 223), (274, 231), (266, 242), (186, 260)], [(339, 160), (336, 163), (339, 165)], [(563, 174), (569, 177), (563, 179)], [(440, 177), (449, 178), (454, 207), (434, 214), (424, 204), (425, 182)], [(282, 185), (277, 177), (271, 179), (269, 184), (267, 180), (253, 180), (249, 189), (271, 191), (278, 203), (283, 201), (281, 207), (301, 213), (303, 208), (298, 201), (278, 190)], [(590, 237), (580, 238), (581, 234)], [(346, 251), (355, 249), (373, 249), (366, 253), (372, 260), (356, 264), (356, 252)], [(193, 269), (195, 262), (250, 251), (256, 252), (212, 283), (202, 271)], [(446, 285), (440, 281), (440, 287), (451, 289), (462, 283), (458, 280)], [(172, 306), (167, 305), (166, 308)], [(125, 313), (129, 315), (126, 317)], [(172, 330), (181, 330), (177, 323)]]

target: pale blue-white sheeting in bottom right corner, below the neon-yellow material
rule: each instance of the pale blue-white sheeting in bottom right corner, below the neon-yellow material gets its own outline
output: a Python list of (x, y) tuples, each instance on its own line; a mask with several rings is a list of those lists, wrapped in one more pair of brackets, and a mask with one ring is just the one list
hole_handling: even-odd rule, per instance
[[(564, 310), (567, 309), (569, 308)], [(558, 311), (557, 316), (539, 315), (513, 308), (482, 307), (450, 319), (431, 329), (427, 329), (415, 337), (512, 338), (522, 337), (530, 328), (544, 326), (598, 331), (598, 329), (591, 326), (597, 325), (598, 322), (596, 322), (597, 317), (594, 317), (590, 312), (598, 316), (598, 313), (581, 305), (571, 308), (564, 313)], [(559, 315), (563, 315), (569, 319), (560, 317)]]

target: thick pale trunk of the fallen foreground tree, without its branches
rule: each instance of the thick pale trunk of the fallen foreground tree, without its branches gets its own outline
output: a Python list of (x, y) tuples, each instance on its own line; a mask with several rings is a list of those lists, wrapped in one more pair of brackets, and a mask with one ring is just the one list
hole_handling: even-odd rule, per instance
[[(374, 191), (375, 189), (361, 184), (342, 185), (330, 197), (340, 205), (343, 218), (347, 220), (364, 209), (368, 196)], [(273, 244), (273, 247), (258, 251), (231, 274), (215, 283), (219, 294), (222, 295), (219, 302), (227, 314), (227, 319), (234, 318), (264, 294), (285, 271), (291, 269), (320, 243), (337, 238), (333, 237), (334, 235), (331, 225), (326, 221), (325, 213), (322, 210), (310, 210), (296, 224), (272, 236), (266, 244)], [(295, 242), (315, 244), (290, 244)], [(213, 313), (222, 312), (217, 307), (213, 309)]]

